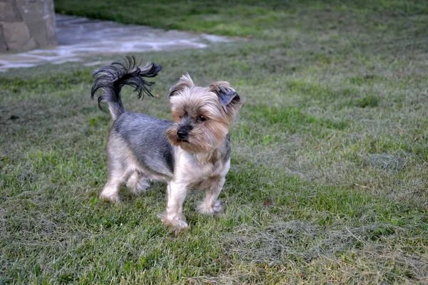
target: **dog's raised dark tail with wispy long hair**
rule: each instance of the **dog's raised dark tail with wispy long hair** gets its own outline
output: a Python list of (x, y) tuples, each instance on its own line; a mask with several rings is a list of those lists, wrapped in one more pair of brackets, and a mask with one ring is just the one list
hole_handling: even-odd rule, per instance
[(134, 91), (138, 93), (138, 98), (143, 98), (144, 95), (152, 96), (151, 86), (153, 81), (146, 81), (144, 77), (155, 77), (161, 71), (161, 66), (156, 63), (146, 63), (142, 66), (136, 62), (133, 57), (126, 56), (124, 63), (114, 62), (110, 66), (93, 71), (95, 76), (91, 90), (91, 98), (96, 93), (96, 90), (103, 89), (103, 95), (98, 97), (98, 107), (103, 110), (101, 103), (108, 103), (111, 117), (116, 120), (125, 112), (121, 100), (121, 89), (123, 86), (133, 86)]

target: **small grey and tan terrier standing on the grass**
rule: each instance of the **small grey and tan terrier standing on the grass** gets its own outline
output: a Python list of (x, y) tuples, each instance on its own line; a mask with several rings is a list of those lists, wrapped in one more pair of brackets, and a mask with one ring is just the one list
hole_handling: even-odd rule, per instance
[(153, 82), (144, 78), (153, 78), (159, 71), (158, 64), (138, 66), (134, 58), (127, 58), (125, 63), (93, 72), (91, 98), (102, 89), (98, 107), (102, 110), (101, 103), (106, 102), (113, 118), (107, 143), (108, 182), (100, 197), (119, 202), (119, 188), (125, 182), (138, 194), (146, 191), (148, 180), (165, 181), (167, 206), (159, 217), (174, 229), (183, 229), (188, 227), (183, 202), (190, 189), (205, 190), (200, 213), (222, 211), (217, 198), (230, 168), (229, 125), (242, 102), (228, 82), (195, 86), (186, 73), (169, 90), (173, 121), (127, 112), (121, 88), (133, 86), (138, 98), (151, 95)]

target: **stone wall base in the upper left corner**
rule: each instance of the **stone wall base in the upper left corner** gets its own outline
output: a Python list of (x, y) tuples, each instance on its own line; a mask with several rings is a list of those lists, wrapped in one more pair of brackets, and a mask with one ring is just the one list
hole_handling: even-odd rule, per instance
[(53, 0), (0, 0), (0, 51), (54, 45)]

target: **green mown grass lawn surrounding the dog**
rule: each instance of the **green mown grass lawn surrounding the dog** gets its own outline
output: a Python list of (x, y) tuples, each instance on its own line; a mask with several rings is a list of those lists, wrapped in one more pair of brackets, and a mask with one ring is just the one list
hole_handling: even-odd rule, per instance
[(98, 201), (111, 117), (89, 98), (92, 68), (0, 73), (0, 284), (427, 284), (427, 2), (166, 2), (55, 4), (245, 37), (136, 55), (162, 64), (158, 97), (123, 95), (161, 118), (185, 72), (242, 95), (223, 215), (195, 212), (192, 192), (175, 235), (156, 217), (161, 183)]

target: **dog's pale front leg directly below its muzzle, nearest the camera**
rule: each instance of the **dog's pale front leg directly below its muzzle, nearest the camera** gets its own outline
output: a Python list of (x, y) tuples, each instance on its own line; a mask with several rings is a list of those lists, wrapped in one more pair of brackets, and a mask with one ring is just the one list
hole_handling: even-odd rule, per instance
[(167, 190), (168, 202), (166, 213), (161, 216), (162, 221), (174, 229), (189, 227), (183, 215), (183, 202), (188, 192), (188, 185), (171, 181), (168, 183)]

